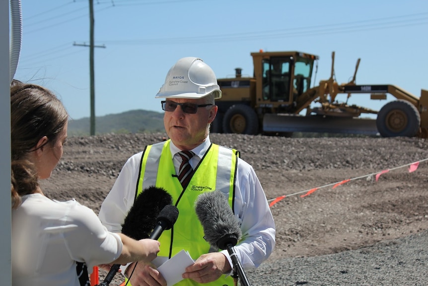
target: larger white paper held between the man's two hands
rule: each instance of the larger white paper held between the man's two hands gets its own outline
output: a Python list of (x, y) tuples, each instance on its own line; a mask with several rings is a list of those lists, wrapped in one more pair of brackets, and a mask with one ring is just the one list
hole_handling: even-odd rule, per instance
[(157, 271), (165, 278), (168, 286), (173, 286), (183, 280), (181, 275), (186, 267), (194, 264), (195, 261), (184, 249), (171, 257), (168, 261), (157, 268)]

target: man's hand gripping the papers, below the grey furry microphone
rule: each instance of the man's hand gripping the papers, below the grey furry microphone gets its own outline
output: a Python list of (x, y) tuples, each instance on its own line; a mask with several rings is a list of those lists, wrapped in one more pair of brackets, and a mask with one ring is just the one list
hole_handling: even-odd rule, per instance
[(229, 273), (231, 270), (229, 261), (222, 253), (212, 252), (201, 255), (193, 265), (186, 268), (182, 277), (198, 283), (208, 283), (217, 280), (223, 273)]

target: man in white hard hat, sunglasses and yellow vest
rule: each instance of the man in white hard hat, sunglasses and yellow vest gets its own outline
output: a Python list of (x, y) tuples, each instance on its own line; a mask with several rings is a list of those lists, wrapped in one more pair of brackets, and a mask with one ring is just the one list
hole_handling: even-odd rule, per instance
[[(165, 99), (161, 104), (170, 139), (146, 146), (128, 159), (99, 217), (108, 230), (121, 231), (121, 223), (139, 193), (150, 186), (167, 190), (179, 215), (172, 229), (160, 236), (158, 257), (171, 258), (184, 249), (196, 261), (176, 285), (232, 286), (230, 255), (227, 250), (213, 250), (204, 240), (195, 201), (199, 194), (214, 190), (228, 197), (242, 231), (234, 250), (243, 269), (251, 269), (265, 261), (275, 247), (275, 223), (266, 195), (254, 169), (239, 158), (238, 151), (210, 141), (210, 124), (217, 113), (214, 99), (221, 97), (221, 91), (205, 62), (195, 57), (180, 59), (155, 97)], [(187, 171), (180, 172), (180, 165), (186, 165), (187, 169), (182, 169)], [(134, 266), (123, 271), (126, 277), (131, 276), (132, 286), (166, 286), (153, 265), (140, 262), (135, 270)]]

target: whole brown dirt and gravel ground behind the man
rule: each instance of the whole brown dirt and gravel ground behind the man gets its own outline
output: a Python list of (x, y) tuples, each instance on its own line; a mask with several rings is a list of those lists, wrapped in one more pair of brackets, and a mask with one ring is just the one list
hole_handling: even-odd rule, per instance
[[(259, 269), (247, 271), (251, 285), (428, 285), (427, 140), (210, 137), (241, 151), (268, 199), (285, 195), (271, 207), (276, 249)], [(97, 212), (125, 161), (164, 138), (71, 137), (42, 187), (52, 198), (76, 198)], [(301, 197), (308, 190), (316, 191)], [(117, 275), (111, 286), (120, 282)]]

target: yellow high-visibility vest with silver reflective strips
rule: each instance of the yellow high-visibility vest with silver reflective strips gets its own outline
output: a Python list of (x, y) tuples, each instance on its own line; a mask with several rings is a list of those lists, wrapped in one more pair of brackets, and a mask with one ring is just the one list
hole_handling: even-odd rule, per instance
[[(163, 188), (172, 196), (172, 201), (179, 209), (177, 221), (170, 230), (165, 230), (159, 238), (159, 256), (171, 258), (181, 250), (189, 252), (196, 260), (210, 251), (210, 244), (204, 239), (204, 229), (195, 212), (195, 201), (199, 194), (207, 191), (222, 191), (228, 197), (233, 211), (235, 175), (239, 152), (211, 144), (201, 162), (194, 168), (189, 185), (183, 190), (178, 181), (170, 152), (170, 140), (146, 146), (140, 164), (140, 177), (137, 193), (155, 186)], [(185, 279), (177, 286), (200, 285)], [(231, 277), (222, 276), (204, 286), (233, 286)]]

